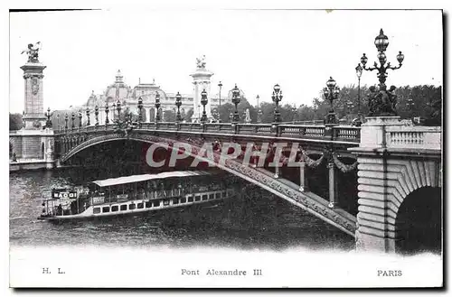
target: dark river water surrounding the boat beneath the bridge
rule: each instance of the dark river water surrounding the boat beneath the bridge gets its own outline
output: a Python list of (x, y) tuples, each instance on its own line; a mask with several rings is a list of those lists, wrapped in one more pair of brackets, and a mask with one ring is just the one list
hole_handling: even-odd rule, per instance
[[(353, 237), (286, 200), (244, 188), (245, 197), (210, 208), (184, 208), (60, 224), (38, 220), (52, 188), (80, 185), (74, 169), (10, 174), (11, 246), (209, 246), (284, 250), (352, 250)], [(89, 180), (92, 181), (92, 180)], [(248, 189), (248, 190), (246, 190)]]

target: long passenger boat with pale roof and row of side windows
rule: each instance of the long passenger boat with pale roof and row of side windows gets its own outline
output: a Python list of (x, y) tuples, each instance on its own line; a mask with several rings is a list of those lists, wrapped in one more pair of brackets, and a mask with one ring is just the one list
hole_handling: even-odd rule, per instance
[(139, 174), (92, 181), (88, 187), (53, 189), (52, 198), (42, 202), (39, 219), (137, 214), (206, 202), (218, 203), (234, 195), (233, 181), (225, 179), (220, 172)]

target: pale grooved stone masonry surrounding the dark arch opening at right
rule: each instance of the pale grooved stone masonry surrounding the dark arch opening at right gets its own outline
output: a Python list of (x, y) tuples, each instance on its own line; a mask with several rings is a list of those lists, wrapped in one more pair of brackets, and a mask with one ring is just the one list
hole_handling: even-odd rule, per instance
[(442, 188), (438, 158), (359, 157), (358, 162), (357, 222), (368, 236), (397, 240), (398, 214), (407, 197), (419, 189)]

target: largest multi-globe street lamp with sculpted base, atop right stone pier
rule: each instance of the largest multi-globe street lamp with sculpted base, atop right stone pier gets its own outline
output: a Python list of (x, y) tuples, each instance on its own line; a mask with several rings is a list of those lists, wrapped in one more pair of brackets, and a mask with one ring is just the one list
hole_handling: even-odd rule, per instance
[(390, 90), (386, 89), (386, 78), (388, 77), (387, 70), (398, 70), (401, 67), (401, 63), (405, 56), (399, 51), (396, 56), (397, 61), (399, 61), (399, 66), (392, 67), (391, 63), (386, 64), (386, 48), (390, 44), (388, 41), (388, 36), (380, 30), (380, 34), (375, 37), (375, 47), (378, 50), (377, 58), (380, 61), (380, 66), (377, 62), (373, 62), (373, 67), (366, 67), (367, 57), (363, 53), (361, 58), (361, 63), (363, 64), (363, 70), (377, 70), (377, 78), (380, 81), (379, 89), (371, 88), (371, 94), (369, 96), (369, 116), (397, 116), (397, 111), (395, 109), (397, 103), (397, 96), (395, 95), (395, 87), (391, 86)]

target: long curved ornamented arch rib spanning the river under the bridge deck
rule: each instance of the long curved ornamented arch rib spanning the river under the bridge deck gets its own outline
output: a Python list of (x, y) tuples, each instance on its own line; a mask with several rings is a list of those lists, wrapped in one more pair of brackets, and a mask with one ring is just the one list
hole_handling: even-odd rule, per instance
[(76, 145), (68, 153), (65, 153), (61, 157), (61, 162), (68, 161), (75, 154), (80, 153), (81, 151), (91, 146), (117, 140), (129, 140), (144, 142), (148, 144), (159, 144), (159, 146), (171, 150), (174, 150), (175, 143), (182, 142), (185, 144), (190, 144), (192, 146), (192, 152), (188, 152), (188, 154), (191, 157), (202, 162), (211, 163), (221, 170), (230, 172), (231, 174), (234, 174), (245, 181), (254, 183), (264, 190), (268, 190), (278, 197), (297, 205), (301, 209), (305, 209), (315, 217), (323, 219), (334, 227), (338, 227), (352, 237), (354, 236), (356, 221), (353, 216), (347, 216), (343, 212), (338, 213), (334, 209), (329, 209), (327, 207), (327, 203), (321, 202), (321, 200), (324, 200), (321, 197), (315, 195), (312, 192), (301, 192), (298, 190), (299, 187), (290, 187), (289, 185), (287, 185), (287, 183), (278, 179), (274, 179), (271, 172), (262, 172), (255, 168), (251, 168), (248, 165), (243, 165), (241, 164), (241, 162), (236, 160), (228, 159), (226, 160), (226, 162), (224, 162), (224, 164), (221, 164), (219, 162), (220, 153), (213, 153), (215, 159), (214, 161), (199, 156), (198, 153), (201, 151), (202, 144), (191, 143), (188, 140), (173, 140), (158, 135), (143, 135), (135, 133), (127, 136), (123, 134), (94, 136)]

